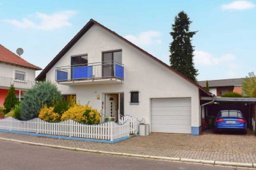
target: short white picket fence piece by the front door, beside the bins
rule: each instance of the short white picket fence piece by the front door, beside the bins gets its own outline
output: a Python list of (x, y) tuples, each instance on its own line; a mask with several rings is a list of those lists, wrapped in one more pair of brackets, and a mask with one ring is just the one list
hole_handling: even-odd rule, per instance
[(125, 115), (122, 116), (119, 120), (119, 123), (125, 123), (129, 121), (130, 123), (130, 134), (138, 134), (139, 132), (139, 127), (140, 127), (140, 123), (144, 123), (144, 119), (142, 118), (142, 120), (138, 120), (136, 118), (132, 118), (132, 116), (130, 115)]

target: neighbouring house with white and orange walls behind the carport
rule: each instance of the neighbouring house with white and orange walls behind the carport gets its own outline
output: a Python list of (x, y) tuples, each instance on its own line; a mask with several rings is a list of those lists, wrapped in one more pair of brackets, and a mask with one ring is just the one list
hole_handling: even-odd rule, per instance
[[(208, 81), (209, 91), (216, 97), (221, 97), (221, 95), (230, 91), (242, 94), (242, 82), (243, 78)], [(199, 81), (198, 84), (204, 88), (206, 87), (206, 81)]]

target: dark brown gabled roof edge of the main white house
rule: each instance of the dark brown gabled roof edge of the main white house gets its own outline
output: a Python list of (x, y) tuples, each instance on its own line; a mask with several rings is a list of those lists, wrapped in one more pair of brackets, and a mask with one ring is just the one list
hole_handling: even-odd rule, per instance
[(102, 24), (100, 24), (99, 22), (90, 19), (89, 22), (87, 22), (87, 24), (79, 31), (79, 33), (77, 33), (76, 36), (74, 36), (74, 38), (72, 38), (72, 40), (70, 42), (68, 42), (68, 44), (59, 52), (59, 54), (52, 59), (52, 61), (44, 68), (44, 70), (36, 77), (36, 81), (43, 81), (46, 78), (46, 73), (49, 72), (49, 70), (52, 68), (52, 66), (54, 66), (61, 58), (62, 56), (79, 40), (79, 38), (81, 38), (81, 36), (84, 35), (84, 33), (86, 33), (90, 27), (92, 27), (93, 25), (97, 25), (99, 27), (102, 27), (103, 29), (105, 29), (106, 31), (108, 31), (109, 33), (117, 36), (118, 38), (120, 38), (121, 40), (124, 40), (124, 42), (128, 43), (129, 45), (131, 45), (132, 47), (134, 47), (137, 50), (140, 50), (141, 52), (143, 52), (143, 54), (145, 54), (146, 56), (148, 56), (149, 58), (154, 59), (155, 61), (157, 61), (158, 63), (160, 63), (161, 65), (165, 66), (166, 68), (172, 70), (172, 72), (177, 73), (177, 75), (179, 75), (180, 77), (183, 77), (184, 79), (186, 79), (188, 82), (190, 82), (191, 84), (193, 84), (194, 86), (196, 86), (197, 88), (201, 89), (205, 94), (210, 95), (211, 93), (209, 93), (208, 91), (206, 91), (204, 88), (202, 88), (201, 86), (199, 86), (198, 84), (196, 84), (195, 82), (193, 82), (191, 79), (189, 79), (188, 77), (186, 77), (185, 75), (183, 75), (182, 73), (174, 70), (171, 66), (166, 65), (165, 63), (163, 63), (163, 61), (157, 59), (156, 57), (152, 56), (151, 54), (149, 54), (148, 52), (146, 52), (145, 50), (141, 49), (140, 47), (138, 47), (137, 45), (134, 45), (134, 43), (129, 42), (127, 39), (125, 39), (124, 37), (118, 35), (117, 33), (115, 33), (114, 31), (112, 31), (111, 29), (108, 29), (108, 27), (103, 26)]

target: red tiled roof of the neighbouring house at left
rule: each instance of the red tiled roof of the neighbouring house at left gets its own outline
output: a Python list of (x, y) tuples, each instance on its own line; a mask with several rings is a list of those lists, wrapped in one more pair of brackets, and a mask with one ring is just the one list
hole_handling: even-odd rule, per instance
[(31, 63), (28, 63), (28, 61), (20, 58), (19, 56), (14, 54), (12, 51), (6, 49), (3, 45), (0, 44), (0, 63), (2, 62), (17, 65), (17, 66), (24, 66), (27, 68), (31, 68), (33, 70), (42, 70), (42, 68), (32, 65)]

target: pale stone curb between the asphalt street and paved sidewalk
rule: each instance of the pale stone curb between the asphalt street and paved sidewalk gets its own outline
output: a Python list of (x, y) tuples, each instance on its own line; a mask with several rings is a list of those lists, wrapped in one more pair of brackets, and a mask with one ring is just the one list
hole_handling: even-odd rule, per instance
[(150, 159), (157, 159), (157, 160), (171, 160), (171, 161), (178, 161), (178, 162), (189, 162), (189, 163), (200, 163), (200, 164), (211, 164), (211, 165), (218, 165), (218, 166), (235, 166), (235, 167), (256, 167), (256, 163), (240, 163), (240, 162), (223, 162), (223, 161), (215, 161), (215, 160), (200, 160), (200, 159), (191, 159), (191, 158), (175, 158), (175, 157), (157, 157), (157, 156), (150, 156), (150, 155), (137, 155), (131, 153), (118, 153), (118, 152), (111, 152), (111, 151), (99, 151), (99, 150), (87, 150), (82, 148), (72, 148), (67, 146), (58, 146), (52, 144), (43, 144), (43, 143), (31, 143), (27, 141), (19, 141), (15, 139), (6, 139), (0, 137), (3, 141), (12, 141), (15, 143), (24, 143), (24, 144), (33, 144), (36, 146), (47, 146), (51, 148), (60, 148), (65, 150), (75, 150), (75, 151), (86, 151), (91, 153), (104, 153), (108, 155), (119, 155), (119, 156), (126, 156), (126, 157), (137, 157), (137, 158), (150, 158)]

